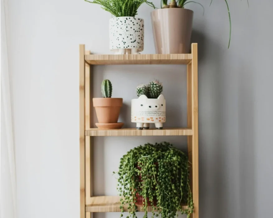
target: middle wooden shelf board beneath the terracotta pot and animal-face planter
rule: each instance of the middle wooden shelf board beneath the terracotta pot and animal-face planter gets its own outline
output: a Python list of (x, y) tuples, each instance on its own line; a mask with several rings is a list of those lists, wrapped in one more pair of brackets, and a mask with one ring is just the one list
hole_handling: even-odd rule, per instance
[(85, 131), (86, 136), (160, 136), (160, 135), (192, 135), (192, 129), (189, 128), (167, 128), (163, 130), (149, 129), (117, 129), (117, 130), (99, 130), (92, 128)]

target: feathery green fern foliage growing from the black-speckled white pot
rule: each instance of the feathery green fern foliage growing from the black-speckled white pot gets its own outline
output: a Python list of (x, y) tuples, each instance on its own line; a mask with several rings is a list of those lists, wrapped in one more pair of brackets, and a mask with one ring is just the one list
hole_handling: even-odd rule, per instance
[(89, 3), (99, 4), (102, 9), (110, 12), (116, 17), (135, 17), (137, 15), (137, 9), (146, 3), (151, 7), (155, 8), (152, 2), (147, 0), (93, 0), (88, 1)]

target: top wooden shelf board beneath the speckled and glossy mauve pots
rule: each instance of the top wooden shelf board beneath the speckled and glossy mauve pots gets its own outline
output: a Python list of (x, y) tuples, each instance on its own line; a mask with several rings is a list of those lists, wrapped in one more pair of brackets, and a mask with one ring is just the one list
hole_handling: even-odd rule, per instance
[(152, 54), (152, 55), (85, 55), (92, 65), (118, 64), (188, 64), (192, 54)]

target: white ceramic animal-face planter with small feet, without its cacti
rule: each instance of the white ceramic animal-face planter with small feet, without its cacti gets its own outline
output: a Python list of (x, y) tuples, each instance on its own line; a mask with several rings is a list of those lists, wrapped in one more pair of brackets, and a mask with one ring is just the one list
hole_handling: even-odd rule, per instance
[(137, 123), (137, 129), (149, 129), (150, 123), (155, 124), (156, 129), (163, 129), (166, 122), (166, 101), (163, 95), (158, 98), (147, 98), (141, 95), (132, 99), (131, 122)]

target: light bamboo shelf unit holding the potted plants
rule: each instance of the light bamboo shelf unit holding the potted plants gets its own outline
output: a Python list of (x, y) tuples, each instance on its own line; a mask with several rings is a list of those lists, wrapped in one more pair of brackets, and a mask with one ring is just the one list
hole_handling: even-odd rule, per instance
[[(197, 43), (191, 54), (171, 55), (91, 55), (80, 45), (80, 218), (90, 218), (92, 212), (120, 212), (119, 196), (92, 197), (93, 193), (93, 140), (92, 136), (164, 136), (186, 135), (190, 166), (190, 186), (194, 211), (191, 217), (199, 218), (198, 188), (198, 75)], [(187, 128), (163, 130), (98, 130), (91, 128), (93, 65), (113, 64), (187, 64)], [(126, 208), (126, 207), (125, 207)], [(187, 206), (183, 206), (187, 208)], [(149, 207), (148, 210), (151, 208)], [(126, 209), (124, 209), (126, 211)], [(141, 207), (139, 211), (143, 211)]]

